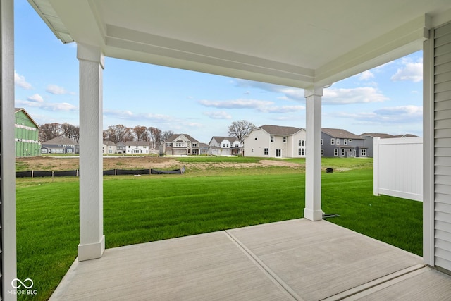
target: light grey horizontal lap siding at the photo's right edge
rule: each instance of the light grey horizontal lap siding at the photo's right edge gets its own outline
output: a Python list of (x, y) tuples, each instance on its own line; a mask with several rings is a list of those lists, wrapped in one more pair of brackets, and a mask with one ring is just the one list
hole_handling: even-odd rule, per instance
[(434, 37), (435, 266), (451, 271), (451, 23)]

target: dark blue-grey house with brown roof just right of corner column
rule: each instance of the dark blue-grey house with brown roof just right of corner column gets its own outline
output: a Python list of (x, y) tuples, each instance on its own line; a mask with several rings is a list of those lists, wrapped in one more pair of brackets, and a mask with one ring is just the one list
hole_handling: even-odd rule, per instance
[(368, 147), (363, 137), (340, 128), (321, 129), (321, 156), (325, 157), (367, 157)]

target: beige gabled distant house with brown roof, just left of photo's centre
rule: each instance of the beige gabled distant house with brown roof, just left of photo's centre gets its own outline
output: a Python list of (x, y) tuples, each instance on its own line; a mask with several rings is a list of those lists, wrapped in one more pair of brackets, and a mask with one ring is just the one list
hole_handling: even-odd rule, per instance
[(200, 142), (187, 134), (174, 134), (163, 143), (166, 156), (190, 156), (200, 154)]

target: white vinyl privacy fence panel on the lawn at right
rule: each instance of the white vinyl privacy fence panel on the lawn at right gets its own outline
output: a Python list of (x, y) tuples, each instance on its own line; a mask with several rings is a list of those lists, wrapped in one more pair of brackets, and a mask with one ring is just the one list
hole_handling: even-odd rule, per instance
[(374, 138), (373, 193), (423, 201), (423, 138)]

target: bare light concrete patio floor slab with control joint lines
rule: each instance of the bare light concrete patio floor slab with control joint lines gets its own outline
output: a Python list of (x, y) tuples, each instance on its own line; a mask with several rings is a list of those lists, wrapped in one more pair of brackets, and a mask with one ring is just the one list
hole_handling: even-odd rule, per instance
[(451, 276), (328, 221), (295, 219), (105, 250), (51, 300), (447, 300)]

